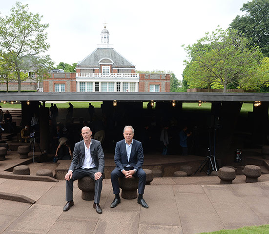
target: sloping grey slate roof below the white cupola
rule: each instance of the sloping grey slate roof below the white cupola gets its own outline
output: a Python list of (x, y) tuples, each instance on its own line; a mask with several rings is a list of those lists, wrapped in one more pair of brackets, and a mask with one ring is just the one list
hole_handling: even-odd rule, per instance
[(78, 67), (80, 66), (99, 66), (99, 60), (103, 58), (111, 59), (113, 63), (113, 67), (134, 67), (134, 65), (125, 59), (122, 55), (120, 55), (113, 48), (97, 48), (90, 55), (88, 55), (85, 59), (78, 63)]

